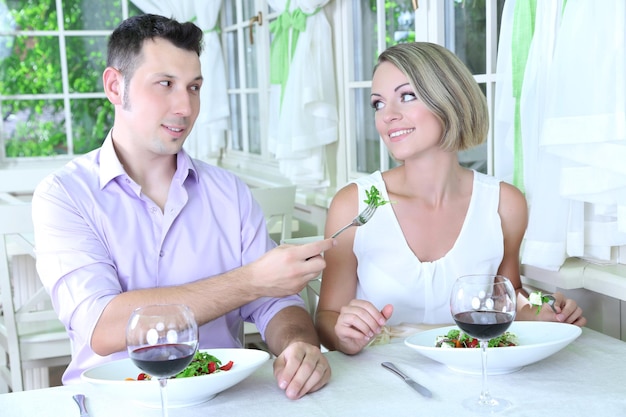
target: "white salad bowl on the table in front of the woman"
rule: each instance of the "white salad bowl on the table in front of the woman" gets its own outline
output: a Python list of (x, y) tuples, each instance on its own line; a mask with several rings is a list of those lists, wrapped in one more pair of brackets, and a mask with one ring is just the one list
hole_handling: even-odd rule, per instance
[[(482, 362), (479, 348), (436, 347), (437, 336), (444, 336), (457, 326), (426, 330), (406, 338), (404, 343), (427, 358), (465, 373), (480, 374)], [(566, 323), (515, 321), (508, 329), (517, 336), (518, 345), (487, 348), (487, 373), (507, 374), (538, 362), (563, 349), (575, 340), (582, 330)]]

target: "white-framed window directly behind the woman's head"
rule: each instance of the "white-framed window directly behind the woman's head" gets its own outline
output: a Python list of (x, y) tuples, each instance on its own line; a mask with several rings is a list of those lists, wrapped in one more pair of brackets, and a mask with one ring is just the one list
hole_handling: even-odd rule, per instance
[[(455, 52), (480, 83), (490, 110), (494, 102), (497, 33), (504, 0), (445, 0), (419, 2), (344, 2), (342, 32), (345, 71), (345, 112), (348, 177), (386, 170), (396, 162), (388, 155), (374, 127), (369, 105), (371, 75), (378, 54), (385, 48), (418, 41), (436, 42)], [(348, 25), (346, 25), (348, 26)], [(488, 156), (493, 142), (459, 155), (463, 165), (492, 172)]]

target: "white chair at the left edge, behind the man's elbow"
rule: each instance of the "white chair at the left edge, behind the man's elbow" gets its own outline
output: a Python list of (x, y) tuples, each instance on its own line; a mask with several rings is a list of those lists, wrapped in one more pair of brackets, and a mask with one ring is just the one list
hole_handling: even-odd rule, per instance
[(35, 269), (30, 203), (0, 204), (0, 392), (49, 386), (70, 340)]

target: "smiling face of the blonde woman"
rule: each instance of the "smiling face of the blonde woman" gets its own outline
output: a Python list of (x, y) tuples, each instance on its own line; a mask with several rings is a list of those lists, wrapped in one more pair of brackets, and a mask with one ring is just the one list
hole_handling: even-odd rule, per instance
[(376, 130), (394, 158), (406, 161), (434, 147), (440, 149), (443, 128), (439, 119), (390, 62), (381, 63), (374, 73), (371, 103)]

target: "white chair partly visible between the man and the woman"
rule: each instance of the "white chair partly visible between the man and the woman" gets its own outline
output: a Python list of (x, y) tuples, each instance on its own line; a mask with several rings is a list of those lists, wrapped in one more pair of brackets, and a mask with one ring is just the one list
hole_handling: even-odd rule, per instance
[[(259, 203), (267, 230), (270, 235), (278, 232), (277, 243), (291, 238), (293, 229), (293, 211), (296, 205), (296, 186), (286, 185), (271, 188), (251, 188), (254, 199)], [(243, 345), (267, 350), (258, 329), (252, 323), (244, 323)]]

